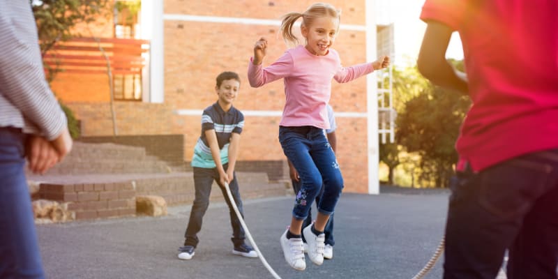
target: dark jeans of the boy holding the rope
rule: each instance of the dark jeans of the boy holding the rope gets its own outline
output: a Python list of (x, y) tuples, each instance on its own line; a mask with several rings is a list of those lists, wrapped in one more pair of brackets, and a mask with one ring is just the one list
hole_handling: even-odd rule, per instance
[[(229, 165), (223, 165), (225, 172)], [(199, 239), (197, 233), (202, 229), (202, 219), (207, 211), (207, 206), (209, 206), (209, 195), (211, 194), (211, 184), (216, 181), (221, 192), (223, 192), (223, 197), (225, 197), (225, 202), (229, 206), (229, 215), (232, 225), (232, 243), (234, 246), (240, 246), (244, 243), (246, 235), (244, 234), (244, 229), (240, 223), (239, 218), (234, 212), (234, 208), (229, 200), (229, 195), (227, 195), (227, 190), (225, 186), (219, 183), (219, 172), (217, 168), (204, 169), (202, 167), (194, 167), (194, 187), (195, 187), (195, 199), (192, 204), (192, 211), (190, 211), (190, 220), (188, 220), (188, 227), (184, 233), (186, 240), (184, 241), (185, 246), (197, 246)], [(242, 210), (242, 201), (240, 198), (239, 184), (236, 181), (236, 173), (234, 174), (234, 179), (229, 183), (229, 189), (231, 190), (232, 197), (234, 198), (234, 203), (236, 207), (239, 208), (242, 218), (244, 218), (244, 213)]]

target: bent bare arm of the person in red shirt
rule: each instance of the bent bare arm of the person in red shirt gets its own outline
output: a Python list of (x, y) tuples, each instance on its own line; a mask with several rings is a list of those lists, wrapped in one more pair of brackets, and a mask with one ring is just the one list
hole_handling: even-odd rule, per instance
[(453, 68), (446, 60), (451, 33), (453, 29), (446, 24), (428, 22), (416, 61), (418, 71), (433, 84), (467, 94), (469, 92), (467, 75)]

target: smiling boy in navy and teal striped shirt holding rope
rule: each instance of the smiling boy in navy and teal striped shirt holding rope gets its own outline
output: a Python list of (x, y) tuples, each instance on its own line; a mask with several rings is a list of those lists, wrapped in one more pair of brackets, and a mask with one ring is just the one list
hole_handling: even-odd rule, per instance
[(234, 165), (239, 151), (240, 134), (244, 126), (244, 116), (232, 106), (240, 88), (237, 73), (223, 72), (216, 78), (215, 91), (218, 100), (207, 107), (202, 114), (202, 135), (197, 140), (192, 158), (194, 169), (195, 199), (190, 211), (190, 220), (184, 234), (184, 246), (179, 248), (179, 259), (191, 259), (199, 243), (197, 233), (202, 229), (202, 219), (209, 206), (211, 185), (216, 181), (229, 206), (232, 225), (232, 243), (234, 255), (257, 257), (255, 250), (248, 246), (244, 229), (234, 213), (231, 201), (225, 190), (225, 183), (234, 198), (234, 203), (243, 216), (239, 184), (234, 174)]

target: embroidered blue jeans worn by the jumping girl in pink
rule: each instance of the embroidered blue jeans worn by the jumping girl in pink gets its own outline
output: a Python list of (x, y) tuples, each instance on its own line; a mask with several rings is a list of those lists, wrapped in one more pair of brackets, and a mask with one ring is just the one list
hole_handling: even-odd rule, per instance
[(280, 126), (279, 142), (301, 179), (301, 190), (296, 195), (292, 211), (294, 218), (304, 220), (308, 217), (322, 183), (324, 193), (317, 206), (318, 212), (333, 214), (341, 196), (343, 178), (324, 131), (312, 126)]

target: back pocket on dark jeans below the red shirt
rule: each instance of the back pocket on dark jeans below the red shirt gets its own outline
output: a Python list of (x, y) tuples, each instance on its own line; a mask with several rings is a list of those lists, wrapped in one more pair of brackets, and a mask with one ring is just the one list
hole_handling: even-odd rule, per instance
[(532, 156), (508, 160), (481, 172), (478, 202), (499, 218), (525, 214), (545, 193), (552, 165)]

